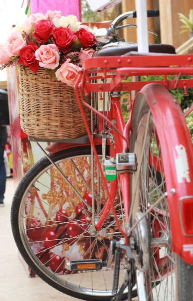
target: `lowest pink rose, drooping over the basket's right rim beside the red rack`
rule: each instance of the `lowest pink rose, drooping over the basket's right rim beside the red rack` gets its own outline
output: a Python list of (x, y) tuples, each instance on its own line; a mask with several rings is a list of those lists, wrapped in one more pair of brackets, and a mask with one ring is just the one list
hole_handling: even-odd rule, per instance
[(69, 61), (70, 59), (67, 59), (65, 63), (63, 63), (61, 67), (57, 69), (55, 76), (57, 80), (73, 88), (78, 75), (78, 70), (80, 68), (72, 63), (69, 63)]

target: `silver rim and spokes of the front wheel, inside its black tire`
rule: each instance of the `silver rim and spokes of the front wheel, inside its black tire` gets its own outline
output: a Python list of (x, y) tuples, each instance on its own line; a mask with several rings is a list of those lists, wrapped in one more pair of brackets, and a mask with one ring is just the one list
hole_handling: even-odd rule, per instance
[[(101, 155), (99, 161), (101, 162)], [(54, 167), (48, 165), (42, 172), (38, 172), (26, 186), (19, 216), (23, 244), (37, 269), (40, 267), (41, 273), (54, 283), (70, 290), (73, 287), (80, 294), (111, 298), (113, 260), (111, 268), (103, 267), (98, 271), (77, 272), (66, 269), (66, 263), (71, 260), (98, 258), (106, 261), (110, 239), (119, 240), (122, 237), (111, 213), (102, 225), (107, 230), (107, 236), (103, 237), (98, 232), (95, 237), (90, 234), (92, 222), (98, 221), (100, 211), (107, 202), (95, 157), (92, 171), (90, 155), (71, 156), (55, 161), (54, 164)], [(91, 179), (96, 200), (92, 222), (91, 213), (82, 202), (82, 198), (86, 198), (84, 195), (90, 194)], [(108, 182), (107, 186), (110, 189)], [(114, 210), (124, 228), (124, 208), (119, 182), (116, 189)], [(28, 220), (30, 224), (27, 223)], [(124, 266), (125, 259), (121, 258), (120, 268), (124, 269)]]

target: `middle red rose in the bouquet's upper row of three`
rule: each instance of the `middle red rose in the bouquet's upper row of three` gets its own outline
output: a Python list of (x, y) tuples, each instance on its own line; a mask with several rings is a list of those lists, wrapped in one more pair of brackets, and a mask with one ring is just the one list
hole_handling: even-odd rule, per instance
[(52, 30), (51, 40), (61, 52), (66, 53), (70, 51), (75, 37), (69, 28), (58, 27)]

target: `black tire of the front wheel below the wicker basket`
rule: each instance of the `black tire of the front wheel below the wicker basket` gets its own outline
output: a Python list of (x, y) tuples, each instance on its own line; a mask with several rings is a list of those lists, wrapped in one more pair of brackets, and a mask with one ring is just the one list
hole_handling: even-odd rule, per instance
[[(101, 155), (101, 146), (96, 146), (96, 150), (98, 155)], [(106, 153), (108, 153), (108, 150), (106, 150)], [(90, 155), (90, 146), (77, 146), (77, 147), (72, 147), (69, 149), (61, 150), (60, 152), (50, 155), (50, 158), (53, 160), (53, 162), (57, 162), (59, 160), (69, 158), (72, 156), (78, 156), (78, 155)], [(108, 155), (108, 154), (106, 154)], [(11, 206), (11, 228), (12, 228), (12, 233), (13, 237), (15, 240), (15, 243), (17, 245), (17, 248), (19, 252), (21, 253), (23, 259), (25, 262), (28, 264), (28, 266), (41, 278), (43, 279), (46, 283), (54, 287), (55, 289), (68, 294), (70, 296), (84, 299), (84, 300), (91, 300), (91, 301), (98, 301), (98, 296), (94, 295), (85, 295), (85, 294), (80, 294), (77, 292), (74, 292), (70, 289), (66, 289), (64, 286), (59, 285), (58, 283), (54, 282), (51, 280), (48, 276), (46, 276), (40, 269), (39, 267), (34, 263), (34, 261), (29, 257), (21, 236), (20, 236), (20, 231), (19, 231), (19, 208), (21, 205), (21, 200), (23, 195), (25, 194), (25, 191), (27, 190), (28, 186), (30, 183), (33, 181), (33, 179), (41, 173), (42, 170), (47, 168), (50, 164), (47, 158), (42, 158), (39, 160), (34, 166), (32, 166), (27, 173), (24, 175), (22, 180), (20, 181), (19, 185), (17, 186), (17, 189), (14, 193), (13, 201), (12, 201), (12, 206)], [(133, 291), (133, 297), (136, 296), (136, 290)], [(110, 301), (112, 296), (110, 297), (100, 297), (99, 299), (101, 301)], [(127, 294), (124, 294), (122, 297), (122, 300), (127, 298)]]

